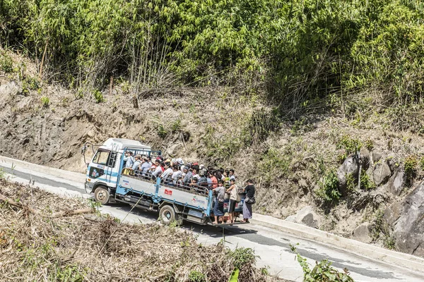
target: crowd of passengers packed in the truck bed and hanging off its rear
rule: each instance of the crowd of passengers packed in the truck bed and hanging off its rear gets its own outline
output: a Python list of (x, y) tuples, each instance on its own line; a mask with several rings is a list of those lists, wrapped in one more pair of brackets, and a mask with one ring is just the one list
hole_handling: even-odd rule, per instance
[[(237, 177), (233, 169), (215, 169), (211, 166), (206, 168), (196, 162), (184, 164), (182, 159), (163, 159), (161, 156), (152, 161), (149, 156), (133, 156), (131, 151), (126, 152), (124, 162), (125, 168), (131, 168), (136, 176), (153, 179), (160, 177), (165, 185), (194, 189), (198, 192), (200, 189), (213, 190), (215, 195), (213, 214), (216, 224), (218, 221), (223, 222), (223, 202), (227, 193), (230, 196), (228, 221), (235, 222), (235, 204), (237, 200), (240, 201), (240, 197), (237, 197), (239, 189), (235, 185)], [(247, 180), (243, 192), (246, 192), (247, 197), (254, 199), (254, 190), (253, 181)], [(249, 219), (252, 219), (252, 204), (245, 201), (243, 222), (249, 222)]]

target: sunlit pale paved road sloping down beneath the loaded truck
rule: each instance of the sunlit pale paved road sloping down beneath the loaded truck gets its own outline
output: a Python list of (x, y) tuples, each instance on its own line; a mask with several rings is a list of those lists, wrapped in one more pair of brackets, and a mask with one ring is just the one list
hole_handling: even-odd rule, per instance
[[(35, 185), (50, 192), (66, 197), (91, 197), (84, 191), (81, 176), (75, 181), (67, 180), (49, 174), (50, 168), (45, 168), (44, 173), (31, 171), (29, 168), (20, 168), (3, 162), (0, 169), (11, 173), (11, 179), (20, 183), (28, 184), (30, 179)], [(131, 208), (126, 204), (113, 204), (102, 207), (102, 212), (110, 213), (121, 220), (130, 223), (150, 223), (158, 218), (155, 212), (143, 212)], [(310, 240), (302, 240), (292, 235), (270, 228), (249, 224), (245, 226), (228, 226), (217, 228), (213, 226), (199, 226), (187, 223), (182, 228), (191, 231), (198, 236), (198, 242), (202, 244), (216, 244), (225, 240), (225, 245), (231, 248), (252, 247), (259, 255), (258, 267), (267, 267), (269, 272), (292, 281), (302, 281), (302, 269), (295, 262), (295, 255), (290, 251), (290, 244), (299, 244), (300, 254), (308, 259), (310, 264), (315, 261), (329, 259), (338, 269), (348, 269), (355, 281), (424, 281), (424, 273), (410, 271), (395, 265), (377, 262), (366, 257), (353, 255), (349, 252), (337, 250), (329, 245), (323, 245)]]

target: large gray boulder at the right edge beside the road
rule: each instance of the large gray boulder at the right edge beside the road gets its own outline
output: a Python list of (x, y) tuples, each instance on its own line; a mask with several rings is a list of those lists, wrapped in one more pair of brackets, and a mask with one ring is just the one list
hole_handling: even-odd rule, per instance
[(402, 201), (384, 211), (391, 224), (396, 250), (419, 257), (424, 256), (424, 183), (420, 183)]

